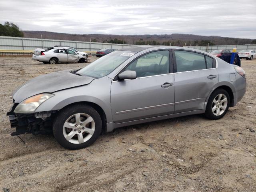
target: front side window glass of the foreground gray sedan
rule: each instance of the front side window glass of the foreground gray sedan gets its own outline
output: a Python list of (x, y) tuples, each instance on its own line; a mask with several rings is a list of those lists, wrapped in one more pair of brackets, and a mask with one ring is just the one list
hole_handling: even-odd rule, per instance
[(169, 51), (150, 52), (129, 64), (125, 70), (136, 71), (138, 77), (168, 74), (170, 69)]

